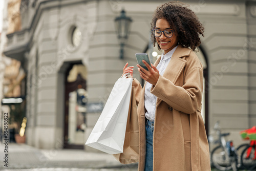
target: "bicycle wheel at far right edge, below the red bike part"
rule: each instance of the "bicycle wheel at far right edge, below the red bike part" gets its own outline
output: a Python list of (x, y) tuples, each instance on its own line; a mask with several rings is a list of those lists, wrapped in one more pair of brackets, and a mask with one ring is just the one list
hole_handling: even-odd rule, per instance
[(255, 169), (256, 168), (256, 152), (255, 145), (247, 146), (241, 154), (241, 164), (245, 169)]

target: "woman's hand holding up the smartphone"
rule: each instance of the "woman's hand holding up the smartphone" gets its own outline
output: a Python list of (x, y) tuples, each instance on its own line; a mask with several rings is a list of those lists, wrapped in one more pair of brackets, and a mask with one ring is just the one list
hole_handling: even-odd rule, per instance
[(152, 63), (151, 63), (151, 66), (152, 66), (151, 68), (150, 65), (148, 65), (148, 63), (145, 60), (142, 60), (142, 62), (145, 64), (148, 71), (142, 68), (140, 65), (137, 65), (138, 71), (140, 73), (140, 77), (145, 81), (151, 83), (152, 85), (156, 86), (156, 83), (160, 75), (159, 71)]

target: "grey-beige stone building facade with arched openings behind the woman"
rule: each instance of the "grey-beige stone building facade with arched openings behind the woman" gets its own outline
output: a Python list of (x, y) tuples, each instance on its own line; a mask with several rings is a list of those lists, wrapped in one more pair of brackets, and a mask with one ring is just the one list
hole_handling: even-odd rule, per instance
[[(4, 54), (21, 61), (26, 71), (29, 145), (84, 148), (125, 63), (136, 65), (135, 53), (152, 51), (152, 14), (165, 2), (21, 2), (22, 29), (7, 35)], [(220, 120), (239, 144), (239, 131), (256, 124), (256, 2), (182, 2), (190, 4), (205, 27), (200, 56), (205, 61), (207, 131)], [(133, 20), (124, 59), (119, 58), (114, 23), (121, 9)]]

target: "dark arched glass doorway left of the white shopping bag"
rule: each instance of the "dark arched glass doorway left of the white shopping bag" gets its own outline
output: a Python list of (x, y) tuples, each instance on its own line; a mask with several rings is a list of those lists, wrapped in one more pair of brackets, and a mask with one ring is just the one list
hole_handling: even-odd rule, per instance
[(64, 148), (84, 148), (86, 131), (87, 70), (72, 63), (65, 75)]

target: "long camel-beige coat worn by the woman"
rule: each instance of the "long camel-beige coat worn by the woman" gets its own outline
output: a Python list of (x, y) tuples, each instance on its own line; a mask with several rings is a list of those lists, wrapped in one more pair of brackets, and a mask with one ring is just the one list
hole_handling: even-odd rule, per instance
[[(155, 62), (158, 65), (160, 58)], [(145, 165), (144, 91), (134, 79), (139, 121), (139, 171)], [(178, 46), (151, 93), (157, 97), (153, 171), (208, 171), (209, 146), (201, 116), (203, 67), (197, 55)]]

